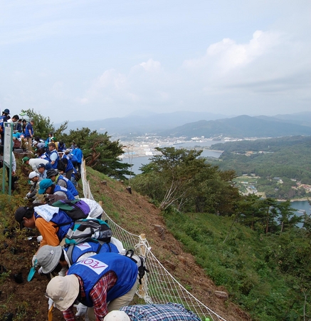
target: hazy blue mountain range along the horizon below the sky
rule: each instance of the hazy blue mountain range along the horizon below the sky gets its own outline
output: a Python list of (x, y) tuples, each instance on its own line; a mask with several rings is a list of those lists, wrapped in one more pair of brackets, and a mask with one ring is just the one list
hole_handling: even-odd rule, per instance
[(68, 130), (88, 127), (110, 136), (185, 136), (186, 138), (254, 138), (311, 136), (311, 112), (276, 116), (236, 116), (180, 111), (174, 113), (139, 113), (101, 121), (73, 121)]

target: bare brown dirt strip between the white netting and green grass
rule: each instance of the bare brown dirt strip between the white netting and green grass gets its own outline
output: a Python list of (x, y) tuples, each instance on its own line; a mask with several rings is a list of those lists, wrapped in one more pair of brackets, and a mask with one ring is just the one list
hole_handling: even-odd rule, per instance
[[(224, 302), (214, 295), (215, 290), (226, 290), (216, 286), (206, 275), (206, 271), (195, 263), (189, 250), (184, 251), (181, 245), (166, 228), (165, 220), (147, 198), (135, 191), (128, 193), (126, 186), (105, 177), (101, 173), (88, 168), (88, 180), (95, 200), (102, 201), (107, 215), (130, 233), (139, 235), (145, 233), (152, 253), (174, 275), (181, 285), (191, 289), (190, 292), (201, 302), (214, 310), (226, 320), (251, 320), (243, 310), (232, 302)], [(107, 181), (107, 185), (103, 181)], [(164, 239), (154, 229), (154, 225), (165, 228)]]

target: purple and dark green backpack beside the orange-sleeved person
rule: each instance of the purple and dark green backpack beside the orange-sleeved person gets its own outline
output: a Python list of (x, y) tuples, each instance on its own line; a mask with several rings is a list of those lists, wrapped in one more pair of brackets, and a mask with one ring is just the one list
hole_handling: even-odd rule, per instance
[(58, 200), (51, 205), (63, 210), (73, 220), (87, 218), (90, 213), (90, 206), (84, 200)]

